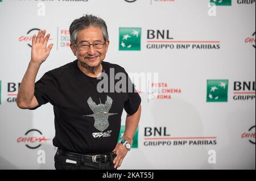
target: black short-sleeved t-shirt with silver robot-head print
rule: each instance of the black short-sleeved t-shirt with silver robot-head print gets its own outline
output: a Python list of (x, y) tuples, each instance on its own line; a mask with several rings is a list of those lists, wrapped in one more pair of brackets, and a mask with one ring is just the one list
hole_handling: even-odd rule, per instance
[[(111, 68), (114, 68), (112, 69), (114, 74), (125, 73), (127, 75), (121, 66), (109, 62), (102, 62), (102, 68), (102, 71), (109, 77), (108, 90), (110, 90), (110, 81), (113, 81), (110, 80)], [(82, 73), (75, 60), (48, 71), (35, 83), (38, 107), (48, 102), (53, 105), (54, 146), (83, 154), (109, 153), (115, 148), (123, 108), (132, 115), (138, 110), (141, 98), (128, 75), (127, 87), (130, 84), (133, 92), (100, 93), (97, 91), (97, 83), (100, 81), (100, 79), (88, 77)], [(114, 83), (118, 81), (115, 79)]]

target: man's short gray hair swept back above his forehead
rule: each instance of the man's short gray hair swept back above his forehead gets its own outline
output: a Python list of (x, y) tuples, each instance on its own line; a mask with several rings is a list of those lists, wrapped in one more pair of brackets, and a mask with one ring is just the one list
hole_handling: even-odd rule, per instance
[(77, 34), (79, 33), (79, 31), (89, 27), (101, 28), (104, 40), (105, 41), (109, 40), (108, 27), (106, 26), (105, 21), (99, 17), (96, 17), (90, 14), (90, 15), (84, 15), (79, 19), (73, 20), (73, 22), (69, 27), (70, 42), (72, 44), (76, 44)]

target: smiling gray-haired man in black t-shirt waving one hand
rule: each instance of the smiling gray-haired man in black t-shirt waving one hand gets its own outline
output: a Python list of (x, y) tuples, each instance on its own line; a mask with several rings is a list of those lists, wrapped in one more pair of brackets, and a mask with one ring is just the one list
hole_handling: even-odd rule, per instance
[[(50, 35), (46, 30), (32, 37), (31, 60), (16, 103), (19, 108), (30, 110), (48, 102), (53, 105), (56, 169), (117, 169), (133, 144), (141, 98), (121, 66), (103, 62), (109, 46), (104, 20), (82, 16), (72, 22), (69, 32), (70, 47), (77, 60), (48, 71), (36, 83), (36, 74), (53, 44), (47, 47)], [(115, 75), (126, 75), (126, 84), (122, 85), (126, 91), (113, 91), (111, 82), (118, 80), (113, 80), (112, 70)], [(104, 87), (107, 91), (100, 90), (100, 77), (108, 77)], [(128, 91), (129, 85), (133, 91)], [(127, 112), (125, 133), (118, 142), (123, 108)]]

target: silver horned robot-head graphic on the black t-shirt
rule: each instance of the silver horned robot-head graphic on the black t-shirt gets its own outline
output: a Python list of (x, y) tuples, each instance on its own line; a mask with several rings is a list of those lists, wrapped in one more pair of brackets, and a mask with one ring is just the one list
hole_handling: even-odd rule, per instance
[(94, 128), (98, 129), (99, 131), (103, 132), (109, 127), (109, 116), (116, 115), (117, 113), (109, 113), (110, 108), (112, 107), (113, 100), (110, 96), (107, 95), (107, 99), (105, 104), (101, 103), (96, 104), (92, 97), (87, 100), (87, 103), (90, 109), (93, 111), (92, 115), (83, 115), (89, 116), (94, 118)]

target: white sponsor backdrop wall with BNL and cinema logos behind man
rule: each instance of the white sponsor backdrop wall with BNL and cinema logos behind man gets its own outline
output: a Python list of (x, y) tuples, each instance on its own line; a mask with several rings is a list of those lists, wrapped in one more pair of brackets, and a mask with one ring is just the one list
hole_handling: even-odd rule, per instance
[(105, 61), (158, 73), (150, 89), (134, 82), (143, 110), (120, 169), (255, 169), (252, 0), (0, 0), (0, 169), (54, 169), (51, 104), (21, 110), (15, 98), (32, 35), (46, 29), (54, 44), (38, 80), (76, 59), (68, 30), (83, 14), (108, 24)]

